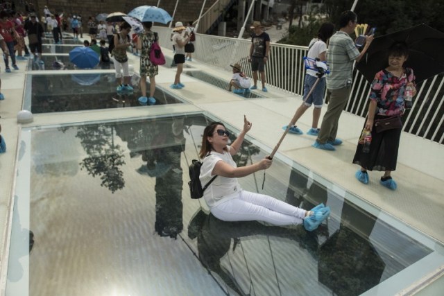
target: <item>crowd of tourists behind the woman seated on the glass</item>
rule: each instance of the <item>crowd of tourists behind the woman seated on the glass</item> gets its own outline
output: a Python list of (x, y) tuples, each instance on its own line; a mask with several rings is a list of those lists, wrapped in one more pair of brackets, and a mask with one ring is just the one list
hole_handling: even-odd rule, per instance
[[(30, 10), (31, 11), (31, 10)], [(99, 56), (101, 63), (114, 63), (117, 80), (117, 92), (133, 92), (133, 86), (130, 84), (128, 51), (134, 55), (140, 55), (140, 87), (141, 96), (139, 103), (142, 105), (154, 105), (155, 100), (155, 76), (159, 73), (157, 64), (151, 60), (151, 47), (158, 44), (157, 33), (151, 31), (153, 23), (145, 21), (142, 23), (143, 30), (135, 31), (133, 27), (124, 19), (117, 22), (110, 22), (100, 19), (97, 21), (95, 17), (87, 19), (87, 28), (90, 42), (85, 39), (84, 46), (89, 46)], [(339, 19), (339, 31), (334, 33), (334, 24), (325, 23), (318, 31), (318, 35), (311, 40), (309, 44), (308, 57), (321, 61), (327, 61), (330, 65), (330, 75), (327, 78), (318, 76), (316, 71), (307, 69), (305, 76), (304, 101), (297, 111), (296, 121), (304, 114), (304, 112), (314, 105), (313, 123), (307, 134), (316, 136), (314, 147), (323, 150), (336, 150), (335, 146), (341, 145), (341, 139), (336, 137), (338, 130), (339, 116), (341, 116), (343, 107), (348, 100), (350, 94), (350, 86), (352, 81), (352, 64), (354, 61), (359, 62), (366, 53), (368, 46), (373, 41), (373, 35), (366, 36), (366, 43), (361, 51), (357, 49), (355, 43), (350, 38), (357, 26), (357, 15), (355, 12), (343, 12)], [(250, 86), (250, 78), (246, 77), (241, 71), (240, 64), (232, 65), (233, 77), (228, 83), (228, 89), (234, 89), (234, 93), (244, 94), (250, 92), (250, 89), (257, 89), (258, 82), (262, 83), (262, 92), (268, 92), (266, 87), (265, 69), (269, 58), (270, 37), (264, 31), (260, 21), (254, 21), (250, 27), (253, 31), (251, 38), (251, 46), (248, 60), (253, 73), (253, 85)], [(54, 43), (63, 42), (62, 32), (70, 31), (74, 35), (74, 39), (83, 38), (83, 19), (81, 15), (64, 15), (63, 13), (51, 12), (48, 7), (44, 7), (43, 15), (39, 19), (35, 12), (29, 12), (26, 17), (21, 13), (12, 10), (3, 9), (0, 11), (0, 46), (3, 49), (4, 63), (6, 72), (10, 73), (11, 62), (12, 69), (18, 70), (17, 60), (26, 59), (31, 53), (35, 56), (35, 62), (42, 62), (42, 37), (44, 33), (51, 33)], [(171, 44), (173, 46), (174, 56), (173, 62), (176, 64), (176, 76), (170, 85), (172, 89), (182, 89), (185, 85), (181, 82), (180, 76), (183, 64), (192, 61), (192, 53), (194, 52), (194, 26), (189, 21), (187, 26), (181, 21), (176, 21), (172, 28)], [(28, 37), (28, 46), (24, 42), (24, 37)], [(99, 41), (99, 44), (98, 44)], [(327, 48), (328, 44), (328, 48)], [(189, 48), (192, 50), (189, 50)], [(411, 69), (404, 69), (402, 61), (393, 64), (391, 61), (398, 58), (407, 59), (408, 49), (404, 49), (404, 45), (398, 44), (397, 49), (391, 50), (391, 66), (383, 69), (382, 73), (375, 78), (370, 94), (370, 107), (366, 125), (364, 128), (372, 133), (373, 143), (370, 146), (371, 153), (361, 153), (362, 143), (359, 143), (357, 153), (353, 162), (361, 166), (357, 172), (357, 179), (368, 184), (367, 171), (372, 169), (384, 171), (381, 184), (389, 189), (396, 189), (397, 185), (391, 177), (391, 171), (396, 167), (396, 156), (398, 154), (400, 128), (391, 130), (396, 132), (391, 136), (387, 136), (391, 141), (384, 141), (385, 133), (377, 133), (375, 131), (376, 119), (382, 119), (384, 116), (402, 115), (405, 106), (399, 103), (396, 98), (403, 98), (407, 85), (413, 87), (414, 76)], [(387, 74), (387, 73), (390, 74)], [(395, 72), (395, 74), (393, 74)], [(398, 92), (393, 96), (381, 93), (381, 85), (384, 83), (394, 83), (390, 75), (395, 75), (396, 89)], [(408, 78), (404, 78), (405, 76)], [(388, 78), (386, 78), (388, 76)], [(149, 92), (146, 89), (146, 79), (149, 78)], [(320, 80), (314, 87), (316, 80)], [(318, 128), (318, 121), (321, 116), (321, 107), (323, 106), (323, 96), (327, 89), (327, 112), (323, 116), (321, 128)], [(311, 88), (314, 89), (311, 91)], [(394, 88), (393, 86), (389, 86)], [(395, 98), (396, 95), (396, 98)], [(4, 99), (0, 93), (0, 100)], [(404, 101), (402, 101), (404, 102)], [(389, 110), (389, 112), (387, 111)], [(393, 111), (395, 110), (395, 111)], [(284, 126), (287, 130), (287, 126)], [(293, 134), (303, 134), (302, 130), (295, 125), (289, 127), (289, 132)], [(381, 146), (381, 143), (386, 143)], [(377, 146), (379, 145), (379, 146)], [(384, 159), (380, 155), (388, 155)]]

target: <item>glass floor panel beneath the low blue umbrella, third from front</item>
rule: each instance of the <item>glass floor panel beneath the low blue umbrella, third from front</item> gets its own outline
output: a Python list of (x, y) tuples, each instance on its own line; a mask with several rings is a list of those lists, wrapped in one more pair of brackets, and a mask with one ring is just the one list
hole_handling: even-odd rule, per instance
[[(42, 60), (44, 64), (39, 64), (33, 62), (34, 60), (28, 61), (28, 71), (44, 71), (44, 70), (78, 70), (73, 63), (69, 61), (69, 55), (42, 55)], [(56, 63), (59, 62), (59, 63)], [(60, 62), (62, 64), (60, 64)], [(114, 63), (99, 63), (96, 67), (92, 68), (94, 70), (108, 70), (114, 69)]]

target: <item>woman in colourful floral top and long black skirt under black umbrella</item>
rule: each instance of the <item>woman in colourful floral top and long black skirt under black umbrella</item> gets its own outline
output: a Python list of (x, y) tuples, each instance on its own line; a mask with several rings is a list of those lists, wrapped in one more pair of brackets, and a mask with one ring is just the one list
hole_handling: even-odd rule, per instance
[[(388, 67), (376, 73), (371, 85), (368, 116), (364, 130), (371, 132), (369, 149), (364, 149), (364, 143), (356, 148), (354, 164), (361, 169), (355, 174), (359, 182), (368, 184), (367, 171), (384, 171), (380, 184), (388, 189), (395, 190), (397, 184), (391, 177), (396, 169), (398, 148), (402, 132), (400, 116), (406, 109), (407, 96), (416, 95), (415, 76), (413, 70), (404, 67), (409, 57), (409, 49), (404, 42), (395, 42), (388, 49)], [(408, 87), (411, 87), (411, 94)], [(391, 121), (395, 123), (391, 123)], [(381, 123), (391, 128), (382, 130)]]

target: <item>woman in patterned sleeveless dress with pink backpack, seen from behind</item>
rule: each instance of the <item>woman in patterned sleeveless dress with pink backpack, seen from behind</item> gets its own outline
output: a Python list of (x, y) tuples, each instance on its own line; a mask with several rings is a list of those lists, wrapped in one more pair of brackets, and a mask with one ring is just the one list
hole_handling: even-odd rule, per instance
[[(159, 37), (157, 33), (151, 31), (152, 21), (144, 21), (142, 24), (144, 25), (144, 32), (139, 35), (137, 40), (137, 49), (142, 51), (140, 55), (140, 90), (142, 96), (139, 98), (139, 103), (154, 105), (155, 76), (159, 73), (159, 67), (151, 62), (150, 51), (151, 45), (158, 42)], [(146, 97), (146, 76), (150, 78), (150, 96), (148, 98)]]

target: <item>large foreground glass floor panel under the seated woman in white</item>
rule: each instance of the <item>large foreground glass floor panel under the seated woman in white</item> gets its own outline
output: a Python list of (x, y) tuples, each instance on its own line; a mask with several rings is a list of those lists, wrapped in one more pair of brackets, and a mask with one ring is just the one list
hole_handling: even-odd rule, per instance
[[(278, 155), (264, 190), (263, 172), (242, 188), (324, 202), (326, 223), (306, 232), (209, 215), (189, 197), (187, 166), (213, 120), (23, 128), (6, 295), (394, 295), (443, 265), (436, 241)], [(267, 155), (253, 140), (238, 166)]]

